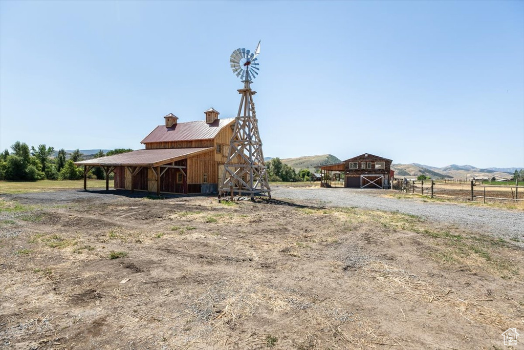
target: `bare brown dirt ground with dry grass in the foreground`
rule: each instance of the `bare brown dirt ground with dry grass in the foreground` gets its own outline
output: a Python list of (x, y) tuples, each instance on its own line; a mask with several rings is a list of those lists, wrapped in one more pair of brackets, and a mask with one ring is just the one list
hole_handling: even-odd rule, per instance
[(524, 333), (524, 251), (451, 224), (209, 197), (1, 205), (7, 349), (505, 349)]

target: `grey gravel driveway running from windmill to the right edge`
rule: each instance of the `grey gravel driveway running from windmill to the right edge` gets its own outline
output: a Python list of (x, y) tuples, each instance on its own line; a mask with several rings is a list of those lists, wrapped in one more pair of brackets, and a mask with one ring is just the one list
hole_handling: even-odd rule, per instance
[[(325, 206), (358, 207), (396, 211), (427, 220), (451, 223), (475, 232), (492, 234), (506, 240), (518, 238), (524, 247), (524, 212), (483, 208), (457, 203), (424, 202), (413, 199), (386, 198), (382, 190), (353, 188), (290, 188), (274, 186), (274, 198), (322, 202)], [(511, 241), (513, 242), (513, 241)], [(517, 242), (515, 242), (517, 243)]]

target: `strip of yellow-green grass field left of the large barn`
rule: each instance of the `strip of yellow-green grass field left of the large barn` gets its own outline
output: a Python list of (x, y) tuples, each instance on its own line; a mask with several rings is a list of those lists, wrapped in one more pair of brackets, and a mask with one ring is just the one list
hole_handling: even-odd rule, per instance
[[(113, 187), (113, 181), (109, 181)], [(46, 192), (60, 189), (84, 188), (84, 180), (40, 180), (40, 181), (0, 181), (0, 194), (16, 194), (28, 192)], [(105, 180), (88, 179), (88, 188), (105, 188)]]

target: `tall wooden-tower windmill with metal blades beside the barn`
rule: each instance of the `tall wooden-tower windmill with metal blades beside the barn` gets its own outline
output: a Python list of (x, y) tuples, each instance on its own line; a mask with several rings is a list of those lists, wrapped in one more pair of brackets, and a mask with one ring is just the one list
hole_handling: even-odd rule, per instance
[(244, 88), (237, 90), (242, 98), (235, 119), (227, 161), (219, 183), (219, 199), (226, 194), (231, 198), (249, 195), (251, 199), (254, 199), (255, 195), (267, 194), (271, 198), (253, 102), (256, 91), (251, 90), (250, 86), (260, 69), (257, 62), (258, 54), (260, 54), (260, 41), (254, 52), (238, 48), (231, 54), (231, 69), (244, 83)]

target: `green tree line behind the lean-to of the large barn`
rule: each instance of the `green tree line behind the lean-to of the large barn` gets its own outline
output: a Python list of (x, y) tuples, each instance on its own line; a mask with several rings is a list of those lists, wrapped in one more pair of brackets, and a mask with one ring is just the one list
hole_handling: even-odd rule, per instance
[[(74, 150), (69, 159), (64, 149), (60, 149), (56, 156), (54, 147), (40, 144), (29, 147), (27, 143), (16, 141), (11, 145), (11, 152), (4, 150), (0, 153), (0, 180), (37, 181), (49, 180), (77, 180), (84, 176), (83, 169), (74, 165), (83, 160), (84, 154), (79, 149)], [(115, 149), (104, 154), (102, 150), (94, 157), (103, 157), (118, 153), (133, 151), (131, 149)], [(104, 179), (102, 168), (95, 167), (88, 174), (90, 178)]]

